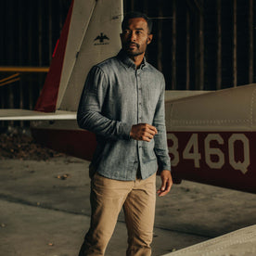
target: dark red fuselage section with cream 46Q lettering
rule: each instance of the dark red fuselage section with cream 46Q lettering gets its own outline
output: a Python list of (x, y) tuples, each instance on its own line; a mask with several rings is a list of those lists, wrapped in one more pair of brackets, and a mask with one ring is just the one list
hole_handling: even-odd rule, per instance
[(172, 132), (168, 146), (176, 178), (256, 193), (256, 132)]

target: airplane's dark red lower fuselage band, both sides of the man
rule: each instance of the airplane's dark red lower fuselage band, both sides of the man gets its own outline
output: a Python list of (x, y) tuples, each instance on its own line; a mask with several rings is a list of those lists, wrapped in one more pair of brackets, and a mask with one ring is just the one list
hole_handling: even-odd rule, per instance
[[(33, 128), (32, 135), (47, 147), (84, 160), (92, 160), (96, 148), (95, 134), (87, 131)], [(256, 193), (256, 132), (167, 135), (174, 180)]]

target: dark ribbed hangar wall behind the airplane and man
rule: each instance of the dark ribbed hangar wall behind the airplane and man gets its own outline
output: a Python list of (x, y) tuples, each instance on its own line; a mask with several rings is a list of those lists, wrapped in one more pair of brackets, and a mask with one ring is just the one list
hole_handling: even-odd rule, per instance
[[(2, 0), (0, 66), (48, 67), (70, 2)], [(216, 90), (256, 83), (255, 4), (124, 0), (124, 12), (138, 10), (153, 18), (147, 59), (163, 72), (166, 89)], [(0, 71), (0, 108), (33, 109), (44, 82), (44, 72)]]

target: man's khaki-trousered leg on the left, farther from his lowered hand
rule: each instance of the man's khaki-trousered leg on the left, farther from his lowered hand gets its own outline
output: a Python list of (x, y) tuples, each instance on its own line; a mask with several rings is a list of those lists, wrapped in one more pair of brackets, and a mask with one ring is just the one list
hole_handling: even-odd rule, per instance
[(91, 182), (91, 226), (79, 256), (104, 255), (118, 215), (134, 182), (123, 182), (95, 174)]

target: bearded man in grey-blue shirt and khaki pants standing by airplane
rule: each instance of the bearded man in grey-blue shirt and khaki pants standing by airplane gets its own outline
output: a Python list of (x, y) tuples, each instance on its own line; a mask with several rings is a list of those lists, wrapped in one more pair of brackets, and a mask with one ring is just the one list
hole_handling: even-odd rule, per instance
[(97, 147), (90, 165), (91, 226), (79, 256), (104, 255), (122, 208), (126, 255), (151, 255), (158, 168), (158, 195), (166, 195), (173, 185), (164, 78), (144, 58), (151, 28), (146, 15), (126, 15), (122, 50), (93, 67), (84, 85), (77, 120), (96, 134)]

